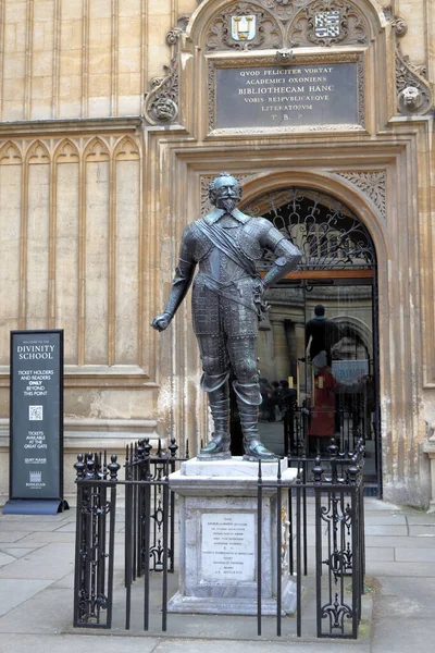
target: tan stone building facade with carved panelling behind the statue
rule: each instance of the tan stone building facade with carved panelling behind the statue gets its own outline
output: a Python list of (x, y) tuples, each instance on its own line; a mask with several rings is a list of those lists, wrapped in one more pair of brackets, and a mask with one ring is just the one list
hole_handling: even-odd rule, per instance
[[(240, 16), (254, 23), (247, 37)], [(426, 506), (433, 0), (0, 0), (0, 29), (2, 496), (13, 329), (64, 329), (66, 494), (77, 452), (122, 455), (145, 435), (188, 439), (196, 452), (208, 416), (188, 304), (160, 336), (149, 323), (209, 180), (229, 170), (245, 205), (309, 188), (370, 232), (383, 495)], [(339, 64), (357, 71), (350, 124), (244, 126), (220, 104), (221, 71)]]

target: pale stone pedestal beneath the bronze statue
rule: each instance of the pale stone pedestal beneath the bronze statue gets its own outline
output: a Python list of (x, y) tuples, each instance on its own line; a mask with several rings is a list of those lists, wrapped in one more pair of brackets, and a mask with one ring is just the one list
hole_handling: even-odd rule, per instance
[[(284, 486), (295, 482), (296, 470), (282, 460)], [(278, 461), (262, 465), (266, 480), (276, 479)], [(170, 612), (199, 614), (257, 614), (257, 486), (258, 464), (231, 460), (182, 464), (170, 476), (178, 494), (179, 589)], [(286, 492), (282, 493), (286, 507)], [(276, 614), (276, 489), (262, 494), (262, 614)], [(282, 607), (295, 611), (296, 583), (282, 575)]]

